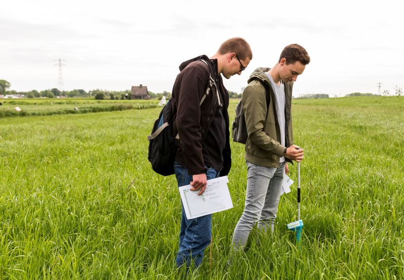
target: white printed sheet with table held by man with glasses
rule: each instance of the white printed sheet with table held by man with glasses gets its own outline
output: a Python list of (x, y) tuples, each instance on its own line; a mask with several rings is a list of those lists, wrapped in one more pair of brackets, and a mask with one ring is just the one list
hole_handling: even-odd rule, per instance
[(187, 219), (193, 219), (208, 214), (233, 208), (227, 183), (227, 176), (210, 179), (205, 192), (198, 196), (199, 191), (190, 191), (191, 185), (178, 188), (184, 205)]

